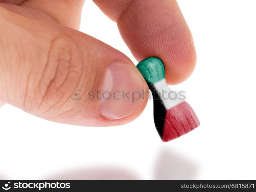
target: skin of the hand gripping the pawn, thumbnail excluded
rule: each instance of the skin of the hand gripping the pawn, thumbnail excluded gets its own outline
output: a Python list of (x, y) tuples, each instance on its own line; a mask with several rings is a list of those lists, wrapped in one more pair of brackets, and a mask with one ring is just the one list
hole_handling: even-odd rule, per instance
[[(150, 56), (163, 61), (168, 84), (190, 76), (196, 54), (175, 0), (94, 3), (117, 23), (138, 61)], [(147, 98), (134, 113), (114, 120), (99, 115), (96, 100), (70, 101), (81, 87), (86, 87), (82, 96), (102, 89), (104, 78), (99, 77), (112, 61), (136, 68), (120, 51), (77, 31), (83, 4), (84, 0), (0, 0), (0, 105), (9, 103), (50, 121), (81, 126), (125, 124), (142, 113)], [(145, 81), (144, 85), (147, 91)]]

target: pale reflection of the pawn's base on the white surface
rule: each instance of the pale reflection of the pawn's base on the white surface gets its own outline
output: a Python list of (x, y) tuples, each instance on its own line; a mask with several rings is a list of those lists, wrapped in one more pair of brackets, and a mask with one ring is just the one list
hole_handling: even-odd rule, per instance
[(162, 148), (155, 164), (153, 179), (195, 179), (195, 162), (167, 148)]

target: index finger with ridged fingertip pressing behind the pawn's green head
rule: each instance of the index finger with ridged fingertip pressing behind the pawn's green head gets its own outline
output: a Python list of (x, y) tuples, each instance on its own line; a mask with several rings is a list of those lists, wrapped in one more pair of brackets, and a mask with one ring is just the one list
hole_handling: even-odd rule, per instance
[(117, 22), (136, 60), (160, 58), (165, 64), (168, 84), (180, 83), (190, 76), (196, 53), (176, 0), (94, 0), (94, 3)]

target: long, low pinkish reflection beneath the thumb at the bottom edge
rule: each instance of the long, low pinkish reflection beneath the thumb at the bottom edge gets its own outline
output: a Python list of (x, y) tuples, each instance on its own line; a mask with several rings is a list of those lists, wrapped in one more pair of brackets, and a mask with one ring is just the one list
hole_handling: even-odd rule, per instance
[(79, 170), (71, 170), (69, 172), (64, 172), (62, 174), (52, 175), (46, 179), (140, 179), (134, 173), (123, 169), (121, 167), (111, 167), (111, 166), (102, 166), (102, 167), (88, 167)]

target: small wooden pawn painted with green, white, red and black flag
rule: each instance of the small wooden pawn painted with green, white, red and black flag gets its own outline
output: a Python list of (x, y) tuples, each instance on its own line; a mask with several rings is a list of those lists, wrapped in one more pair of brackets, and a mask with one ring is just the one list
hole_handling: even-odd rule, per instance
[(140, 61), (137, 68), (152, 92), (155, 127), (162, 141), (180, 137), (200, 125), (195, 112), (185, 100), (169, 97), (171, 89), (166, 84), (165, 67), (160, 59), (147, 58)]

